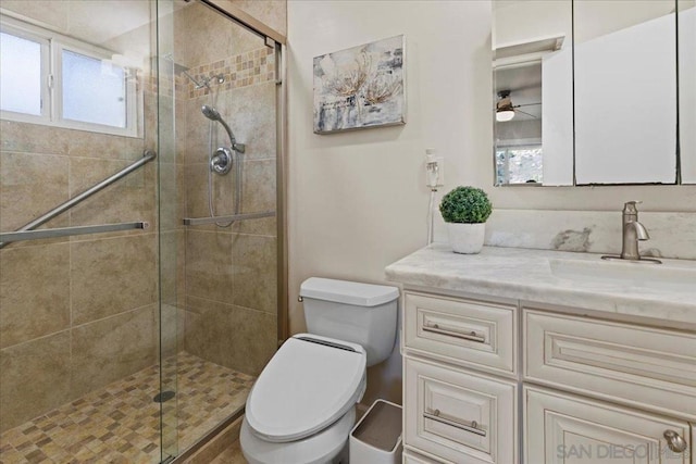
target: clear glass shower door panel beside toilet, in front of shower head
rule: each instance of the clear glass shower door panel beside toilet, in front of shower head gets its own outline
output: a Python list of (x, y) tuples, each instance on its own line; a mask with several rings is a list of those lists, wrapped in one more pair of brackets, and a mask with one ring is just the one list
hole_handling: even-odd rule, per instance
[(279, 46), (206, 1), (157, 3), (162, 388), (176, 393), (163, 449), (177, 454), (240, 414), (277, 347)]

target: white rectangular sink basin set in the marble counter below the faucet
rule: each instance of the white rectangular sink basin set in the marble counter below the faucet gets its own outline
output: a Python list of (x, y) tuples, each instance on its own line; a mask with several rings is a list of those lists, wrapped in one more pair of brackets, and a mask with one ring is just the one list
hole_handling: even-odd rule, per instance
[(621, 261), (549, 260), (551, 275), (595, 284), (623, 285), (696, 293), (696, 266)]

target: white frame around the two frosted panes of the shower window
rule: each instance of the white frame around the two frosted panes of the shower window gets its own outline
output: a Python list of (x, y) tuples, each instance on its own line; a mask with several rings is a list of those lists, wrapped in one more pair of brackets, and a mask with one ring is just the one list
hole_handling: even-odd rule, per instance
[(8, 16), (4, 11), (0, 18), (0, 30), (38, 42), (41, 46), (41, 114), (34, 115), (1, 110), (0, 118), (126, 137), (138, 137), (138, 134), (141, 134), (144, 97), (142, 90), (137, 84), (137, 71), (134, 67), (122, 66), (117, 63), (114, 63), (114, 65), (123, 70), (125, 79), (125, 127), (63, 117), (63, 51), (107, 61), (111, 61), (112, 57), (115, 55), (114, 52)]

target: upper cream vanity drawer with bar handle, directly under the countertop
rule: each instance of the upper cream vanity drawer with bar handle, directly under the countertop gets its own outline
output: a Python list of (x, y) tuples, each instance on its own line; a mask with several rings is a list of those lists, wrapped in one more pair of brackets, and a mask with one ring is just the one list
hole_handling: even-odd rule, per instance
[(517, 306), (407, 292), (407, 350), (512, 376), (517, 372)]

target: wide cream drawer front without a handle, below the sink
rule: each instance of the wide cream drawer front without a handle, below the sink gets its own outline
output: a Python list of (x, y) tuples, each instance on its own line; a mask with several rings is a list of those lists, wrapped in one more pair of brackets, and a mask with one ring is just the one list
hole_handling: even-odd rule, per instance
[(523, 310), (524, 379), (696, 419), (696, 334)]

